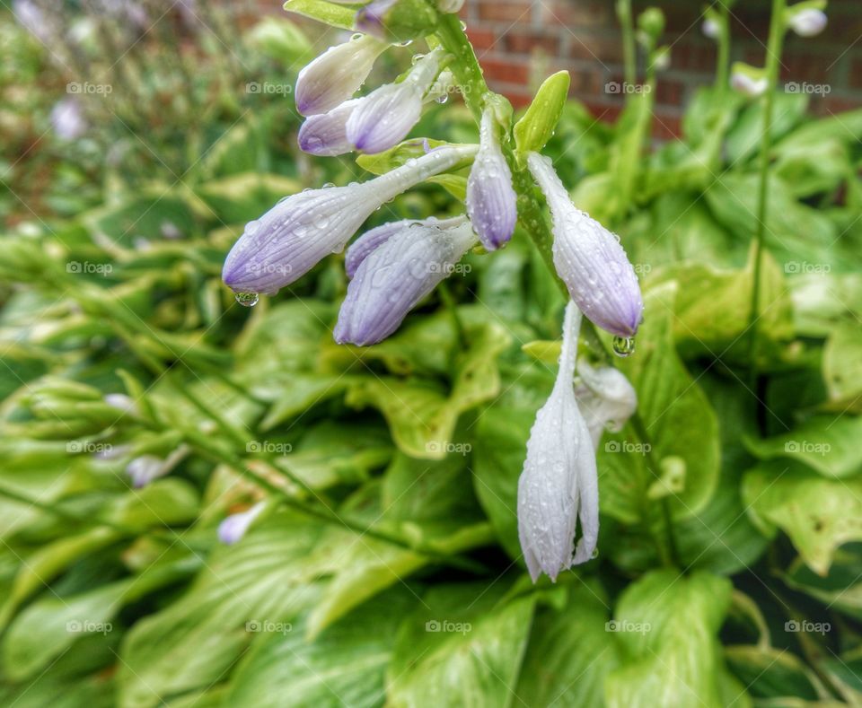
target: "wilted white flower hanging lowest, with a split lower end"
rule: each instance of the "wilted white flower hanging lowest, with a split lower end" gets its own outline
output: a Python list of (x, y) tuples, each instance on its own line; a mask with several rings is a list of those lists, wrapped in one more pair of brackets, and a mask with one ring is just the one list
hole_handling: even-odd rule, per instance
[(536, 414), (518, 480), (518, 537), (533, 582), (541, 573), (556, 581), (560, 571), (588, 561), (599, 535), (595, 452), (572, 381), (580, 320), (569, 302), (557, 381)]

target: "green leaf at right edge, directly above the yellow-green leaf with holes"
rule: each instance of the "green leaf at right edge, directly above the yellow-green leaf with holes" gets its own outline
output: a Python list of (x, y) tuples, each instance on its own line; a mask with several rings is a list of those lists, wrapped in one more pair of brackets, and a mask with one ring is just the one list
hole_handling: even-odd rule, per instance
[(745, 443), (760, 459), (796, 459), (823, 476), (847, 477), (862, 469), (860, 437), (862, 417), (818, 415), (783, 435)]

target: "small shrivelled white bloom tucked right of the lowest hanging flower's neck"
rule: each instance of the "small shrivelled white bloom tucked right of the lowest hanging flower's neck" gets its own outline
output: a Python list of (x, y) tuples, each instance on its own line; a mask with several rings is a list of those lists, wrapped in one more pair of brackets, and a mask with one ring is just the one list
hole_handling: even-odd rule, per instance
[(581, 358), (577, 363), (580, 382), (575, 389), (577, 405), (598, 448), (605, 430), (617, 433), (638, 407), (638, 394), (626, 375), (612, 366), (594, 369)]

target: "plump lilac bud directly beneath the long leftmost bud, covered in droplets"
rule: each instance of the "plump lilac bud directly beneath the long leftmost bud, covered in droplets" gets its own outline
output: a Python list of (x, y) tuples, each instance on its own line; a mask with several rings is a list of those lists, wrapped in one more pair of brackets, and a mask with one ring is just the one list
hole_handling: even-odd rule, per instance
[(339, 344), (366, 346), (389, 337), (476, 243), (462, 216), (401, 223), (356, 268), (333, 332)]

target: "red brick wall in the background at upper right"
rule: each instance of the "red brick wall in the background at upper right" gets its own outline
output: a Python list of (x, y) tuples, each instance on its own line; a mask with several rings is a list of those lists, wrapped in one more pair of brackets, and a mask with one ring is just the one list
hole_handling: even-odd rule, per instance
[[(699, 0), (635, 2), (664, 10), (664, 43), (671, 66), (659, 76), (655, 95), (656, 137), (679, 131), (682, 108), (698, 86), (712, 83), (715, 43), (700, 31)], [(828, 87), (813, 97), (813, 109), (828, 114), (862, 106), (862, 2), (831, 0), (826, 31), (812, 39), (787, 36), (782, 78)], [(769, 28), (768, 0), (746, 0), (733, 10), (733, 58), (761, 66)], [(620, 82), (622, 49), (613, 0), (467, 0), (462, 11), (468, 34), (491, 88), (516, 106), (550, 72), (568, 69), (571, 93), (598, 117), (612, 119), (623, 98), (605, 91)]]

